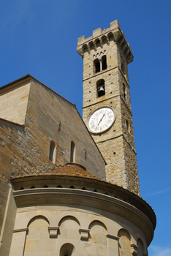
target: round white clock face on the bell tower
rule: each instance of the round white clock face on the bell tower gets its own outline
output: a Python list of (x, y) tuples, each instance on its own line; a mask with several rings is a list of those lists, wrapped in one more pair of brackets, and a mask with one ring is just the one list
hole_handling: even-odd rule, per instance
[(88, 129), (90, 132), (99, 133), (109, 129), (115, 121), (115, 113), (113, 108), (98, 108), (91, 114), (88, 121)]

